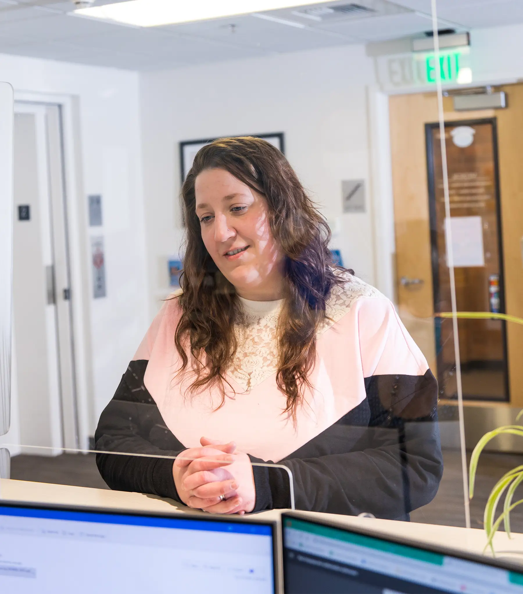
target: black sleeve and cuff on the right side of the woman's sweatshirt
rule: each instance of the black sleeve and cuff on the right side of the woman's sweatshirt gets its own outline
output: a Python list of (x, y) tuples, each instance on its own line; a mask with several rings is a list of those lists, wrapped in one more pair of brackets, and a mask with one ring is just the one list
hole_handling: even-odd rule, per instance
[[(366, 392), (356, 409), (281, 460), (293, 475), (297, 509), (408, 519), (438, 491), (438, 384), (430, 370), (366, 378)], [(290, 507), (286, 470), (253, 470), (255, 510)]]

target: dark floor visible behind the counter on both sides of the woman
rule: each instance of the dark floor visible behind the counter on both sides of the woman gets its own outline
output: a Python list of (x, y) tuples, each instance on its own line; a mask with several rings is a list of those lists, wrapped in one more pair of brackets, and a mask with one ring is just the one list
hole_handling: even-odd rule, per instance
[[(470, 502), (471, 526), (483, 527), (483, 509), (490, 489), (503, 473), (523, 464), (523, 455), (483, 453), (476, 478), (476, 493)], [(22, 454), (11, 459), (11, 478), (107, 489), (99, 475), (94, 454), (62, 454), (56, 457)], [(435, 499), (411, 513), (413, 522), (464, 526), (465, 512), (459, 451), (445, 452), (445, 472)], [(521, 489), (523, 491), (523, 488)], [(518, 498), (514, 498), (517, 501)], [(523, 532), (523, 505), (511, 514), (514, 532)]]

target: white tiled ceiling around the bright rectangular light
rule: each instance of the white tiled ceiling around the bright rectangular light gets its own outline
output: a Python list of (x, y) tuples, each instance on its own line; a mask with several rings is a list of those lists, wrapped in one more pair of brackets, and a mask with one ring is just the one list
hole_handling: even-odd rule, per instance
[[(18, 5), (13, 10), (15, 5), (0, 0), (0, 52), (150, 70), (388, 40), (432, 29), (430, 0), (395, 0), (388, 5), (359, 0), (382, 12), (403, 12), (335, 22), (306, 20), (292, 10), (265, 13), (301, 23), (303, 28), (243, 15), (147, 29), (65, 14), (72, 10), (69, 0), (40, 1), (40, 8)], [(523, 0), (438, 0), (438, 16), (440, 28), (454, 24), (458, 30), (520, 23)]]

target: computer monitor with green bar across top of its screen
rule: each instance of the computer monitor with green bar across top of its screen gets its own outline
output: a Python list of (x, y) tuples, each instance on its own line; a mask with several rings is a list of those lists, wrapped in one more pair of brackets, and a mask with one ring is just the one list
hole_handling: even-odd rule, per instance
[(523, 594), (523, 568), (283, 514), (285, 594)]

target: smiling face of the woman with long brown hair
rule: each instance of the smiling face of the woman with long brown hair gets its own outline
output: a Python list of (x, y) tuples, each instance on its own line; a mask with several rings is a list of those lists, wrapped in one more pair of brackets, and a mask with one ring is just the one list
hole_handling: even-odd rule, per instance
[(202, 171), (195, 194), (202, 240), (237, 293), (253, 301), (280, 299), (283, 254), (265, 198), (224, 169)]

